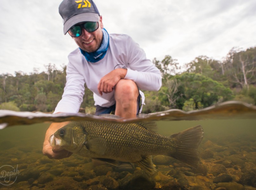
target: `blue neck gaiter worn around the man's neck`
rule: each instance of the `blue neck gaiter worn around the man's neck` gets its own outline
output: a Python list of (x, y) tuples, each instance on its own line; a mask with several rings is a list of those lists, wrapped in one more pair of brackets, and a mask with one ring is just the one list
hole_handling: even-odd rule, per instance
[(95, 63), (99, 60), (102, 60), (107, 53), (108, 44), (109, 44), (109, 35), (105, 28), (102, 29), (102, 32), (103, 32), (102, 43), (99, 49), (97, 49), (97, 51), (88, 53), (79, 47), (81, 53), (84, 55), (85, 59), (89, 62)]

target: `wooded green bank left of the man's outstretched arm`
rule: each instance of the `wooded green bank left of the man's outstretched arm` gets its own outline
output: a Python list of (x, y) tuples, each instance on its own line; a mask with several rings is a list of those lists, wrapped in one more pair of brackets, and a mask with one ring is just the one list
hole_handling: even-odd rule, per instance
[(21, 111), (53, 111), (63, 93), (66, 67), (57, 71), (49, 64), (47, 68), (47, 73), (0, 75), (0, 104), (12, 101)]

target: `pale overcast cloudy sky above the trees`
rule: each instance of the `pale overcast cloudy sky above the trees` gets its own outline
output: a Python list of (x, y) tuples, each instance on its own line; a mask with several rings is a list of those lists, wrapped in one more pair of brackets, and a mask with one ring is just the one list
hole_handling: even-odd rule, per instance
[[(0, 1), (0, 74), (61, 70), (77, 45), (63, 34), (62, 0)], [(233, 47), (256, 46), (255, 0), (94, 0), (109, 34), (130, 35), (148, 59), (180, 65), (198, 56), (223, 60)]]

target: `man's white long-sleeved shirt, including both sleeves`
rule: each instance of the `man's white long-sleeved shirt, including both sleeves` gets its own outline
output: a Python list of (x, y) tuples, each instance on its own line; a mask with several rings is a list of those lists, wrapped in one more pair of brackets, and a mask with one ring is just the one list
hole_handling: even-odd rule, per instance
[[(158, 91), (162, 85), (159, 69), (146, 58), (145, 52), (128, 35), (110, 34), (107, 53), (98, 62), (87, 61), (79, 48), (71, 52), (68, 58), (67, 83), (54, 113), (77, 113), (83, 101), (85, 83), (93, 92), (95, 105), (114, 105), (115, 92), (103, 93), (101, 96), (97, 85), (103, 76), (116, 68), (126, 68), (124, 79), (133, 80), (140, 90)], [(141, 91), (140, 94), (144, 104), (144, 94)]]

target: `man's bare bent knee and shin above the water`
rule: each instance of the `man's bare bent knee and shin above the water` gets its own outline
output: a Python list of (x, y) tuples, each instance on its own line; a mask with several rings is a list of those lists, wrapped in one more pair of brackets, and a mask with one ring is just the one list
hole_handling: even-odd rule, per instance
[(133, 80), (121, 79), (115, 85), (115, 115), (123, 118), (135, 118), (139, 90)]

